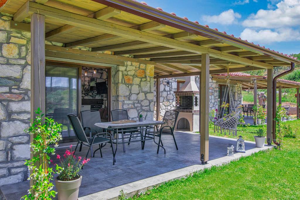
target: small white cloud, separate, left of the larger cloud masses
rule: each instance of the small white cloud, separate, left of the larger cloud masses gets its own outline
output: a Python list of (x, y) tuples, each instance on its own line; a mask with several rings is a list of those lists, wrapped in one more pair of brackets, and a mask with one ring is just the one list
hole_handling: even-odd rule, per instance
[(226, 10), (219, 15), (206, 15), (202, 16), (205, 22), (229, 25), (237, 22), (237, 19), (241, 18), (239, 13), (235, 13), (232, 9)]

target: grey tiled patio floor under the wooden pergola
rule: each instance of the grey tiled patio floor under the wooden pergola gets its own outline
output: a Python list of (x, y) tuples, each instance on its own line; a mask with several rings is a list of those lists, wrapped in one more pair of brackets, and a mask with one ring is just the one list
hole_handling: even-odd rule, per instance
[[(97, 151), (94, 158), (82, 170), (82, 184), (79, 190), (79, 197), (97, 193), (110, 188), (129, 184), (134, 181), (161, 175), (177, 169), (193, 165), (201, 165), (200, 161), (200, 135), (196, 133), (175, 133), (179, 150), (176, 150), (173, 138), (164, 136), (163, 142), (166, 154), (160, 151), (156, 154), (157, 145), (153, 141), (146, 141), (145, 149), (141, 150), (140, 142), (126, 145), (126, 152), (119, 146), (116, 155), (116, 165), (113, 165), (113, 156), (110, 145), (106, 145), (103, 150), (103, 158)], [(232, 139), (209, 137), (209, 160), (226, 156), (229, 142)], [(254, 149), (255, 144), (246, 142), (246, 150)], [(67, 147), (57, 148), (56, 153), (61, 156)], [(74, 149), (74, 148), (73, 148)], [(83, 146), (82, 151), (77, 150), (76, 156), (84, 157), (87, 147)], [(55, 157), (55, 156), (54, 156)], [(54, 159), (57, 161), (57, 159)], [(29, 182), (6, 185), (1, 187), (7, 200), (19, 199), (27, 193)]]

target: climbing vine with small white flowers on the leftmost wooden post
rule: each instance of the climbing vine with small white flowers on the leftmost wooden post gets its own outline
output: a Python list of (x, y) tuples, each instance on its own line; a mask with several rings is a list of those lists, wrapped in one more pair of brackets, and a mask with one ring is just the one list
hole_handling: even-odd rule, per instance
[(53, 178), (53, 173), (59, 173), (61, 168), (58, 165), (55, 166), (55, 170), (49, 167), (49, 154), (55, 154), (55, 148), (49, 145), (58, 146), (58, 141), (62, 139), (61, 124), (57, 124), (51, 118), (44, 118), (40, 108), (35, 110), (35, 113), (37, 116), (27, 131), (34, 137), (30, 143), (33, 157), (25, 162), (31, 170), (28, 179), (33, 181), (33, 185), (28, 190), (28, 195), (23, 196), (22, 199), (51, 200), (56, 192), (52, 190), (53, 184), (50, 180)]

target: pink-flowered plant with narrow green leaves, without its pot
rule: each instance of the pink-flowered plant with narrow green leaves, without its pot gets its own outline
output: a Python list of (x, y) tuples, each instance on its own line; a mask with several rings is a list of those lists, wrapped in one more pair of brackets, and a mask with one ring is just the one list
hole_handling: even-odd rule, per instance
[(82, 160), (81, 156), (76, 158), (74, 151), (72, 151), (72, 145), (70, 145), (70, 150), (66, 149), (63, 158), (59, 154), (57, 154), (56, 158), (60, 161), (62, 167), (62, 171), (58, 176), (58, 180), (60, 181), (72, 181), (78, 179), (80, 177), (79, 172), (83, 166), (90, 161), (90, 159)]

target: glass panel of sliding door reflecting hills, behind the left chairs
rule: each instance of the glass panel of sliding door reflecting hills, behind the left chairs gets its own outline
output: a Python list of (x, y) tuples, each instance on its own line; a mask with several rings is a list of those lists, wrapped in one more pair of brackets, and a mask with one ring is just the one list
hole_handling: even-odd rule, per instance
[(63, 142), (74, 138), (67, 114), (78, 116), (78, 67), (46, 65), (46, 117), (62, 124)]

